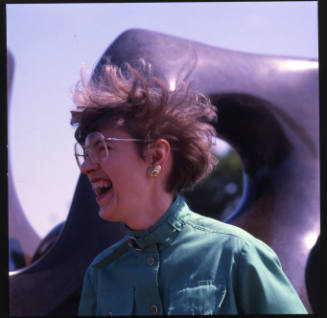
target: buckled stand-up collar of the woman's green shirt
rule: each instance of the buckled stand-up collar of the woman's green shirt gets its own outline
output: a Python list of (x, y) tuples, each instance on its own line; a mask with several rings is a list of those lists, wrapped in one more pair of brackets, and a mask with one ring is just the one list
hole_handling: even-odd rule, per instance
[(189, 208), (184, 199), (177, 195), (169, 209), (151, 228), (134, 231), (125, 227), (128, 235), (135, 238), (134, 243), (139, 249), (143, 250), (157, 243), (171, 243), (184, 226), (182, 215), (188, 211)]

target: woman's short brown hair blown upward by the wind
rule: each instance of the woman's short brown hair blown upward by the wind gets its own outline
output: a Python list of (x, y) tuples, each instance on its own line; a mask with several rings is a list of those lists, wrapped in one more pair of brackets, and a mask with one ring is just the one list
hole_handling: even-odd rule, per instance
[(217, 162), (210, 152), (216, 136), (215, 106), (184, 82), (170, 90), (152, 75), (150, 64), (144, 64), (142, 71), (127, 63), (107, 64), (101, 76), (88, 82), (82, 74), (73, 100), (77, 109), (71, 112), (71, 124), (77, 125), (75, 138), (81, 144), (90, 132), (111, 125), (144, 140), (136, 143), (144, 158), (153, 141), (166, 139), (173, 157), (168, 192), (192, 189)]

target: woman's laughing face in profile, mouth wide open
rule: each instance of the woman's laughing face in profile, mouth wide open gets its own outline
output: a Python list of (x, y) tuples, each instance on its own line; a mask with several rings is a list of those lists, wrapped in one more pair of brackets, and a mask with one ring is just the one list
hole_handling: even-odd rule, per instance
[[(120, 128), (98, 129), (104, 137), (129, 139)], [(108, 141), (109, 159), (104, 163), (86, 160), (81, 166), (96, 193), (100, 217), (129, 223), (138, 211), (145, 211), (152, 192), (147, 174), (149, 159), (140, 157), (135, 142)], [(102, 193), (102, 188), (106, 191)]]

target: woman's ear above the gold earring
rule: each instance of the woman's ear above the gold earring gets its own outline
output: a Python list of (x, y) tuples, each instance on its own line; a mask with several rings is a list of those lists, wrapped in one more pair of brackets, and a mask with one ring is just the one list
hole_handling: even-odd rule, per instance
[(170, 156), (170, 144), (166, 139), (157, 139), (147, 150), (147, 161), (150, 166), (160, 165), (162, 168), (166, 165)]

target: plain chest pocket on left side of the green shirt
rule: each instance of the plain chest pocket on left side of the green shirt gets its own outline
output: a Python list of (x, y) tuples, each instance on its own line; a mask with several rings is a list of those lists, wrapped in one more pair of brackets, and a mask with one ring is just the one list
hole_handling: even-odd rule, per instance
[(133, 314), (133, 288), (105, 291), (97, 298), (97, 316), (130, 316)]

